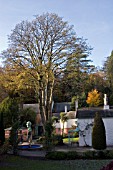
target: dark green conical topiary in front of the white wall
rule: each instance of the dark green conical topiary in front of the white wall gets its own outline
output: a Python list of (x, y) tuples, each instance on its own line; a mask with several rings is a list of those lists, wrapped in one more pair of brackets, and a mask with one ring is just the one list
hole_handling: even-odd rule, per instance
[(99, 113), (96, 113), (92, 131), (92, 147), (97, 150), (106, 149), (106, 132), (104, 122)]

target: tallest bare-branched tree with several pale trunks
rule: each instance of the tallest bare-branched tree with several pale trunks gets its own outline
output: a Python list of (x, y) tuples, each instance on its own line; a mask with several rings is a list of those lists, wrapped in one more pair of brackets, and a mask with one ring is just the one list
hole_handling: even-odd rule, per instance
[(3, 56), (32, 70), (43, 123), (51, 117), (54, 76), (78, 50), (87, 51), (86, 43), (77, 38), (73, 26), (53, 13), (37, 15), (31, 22), (22, 21), (9, 36), (9, 48)]

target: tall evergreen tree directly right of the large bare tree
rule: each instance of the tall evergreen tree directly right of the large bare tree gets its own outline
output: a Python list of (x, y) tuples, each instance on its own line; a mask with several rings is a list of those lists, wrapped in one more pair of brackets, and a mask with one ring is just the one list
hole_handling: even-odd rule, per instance
[[(90, 50), (91, 49), (89, 49), (89, 51)], [(80, 51), (80, 53), (73, 53), (67, 60), (63, 83), (66, 91), (70, 94), (70, 99), (75, 95), (81, 96), (81, 93), (85, 92), (88, 74), (94, 67), (89, 64), (89, 62), (91, 62), (91, 60), (88, 59), (89, 51), (87, 51), (87, 53), (84, 53), (84, 50)]]

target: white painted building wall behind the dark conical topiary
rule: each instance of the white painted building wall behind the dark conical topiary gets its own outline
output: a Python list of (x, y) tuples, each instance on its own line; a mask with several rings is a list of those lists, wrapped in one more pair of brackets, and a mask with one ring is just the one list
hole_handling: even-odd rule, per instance
[[(80, 130), (84, 130), (85, 126), (91, 122), (94, 122), (94, 119), (78, 119)], [(106, 144), (107, 146), (113, 146), (113, 118), (103, 118), (103, 122), (106, 130)], [(92, 146), (92, 127), (86, 131), (85, 135), (87, 145)], [(79, 146), (85, 146), (83, 136), (80, 133)]]

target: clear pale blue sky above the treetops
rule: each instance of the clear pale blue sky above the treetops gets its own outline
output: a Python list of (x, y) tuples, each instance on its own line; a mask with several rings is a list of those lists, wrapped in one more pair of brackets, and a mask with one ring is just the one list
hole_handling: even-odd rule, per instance
[(113, 0), (0, 0), (0, 52), (16, 24), (46, 12), (74, 25), (77, 36), (93, 47), (92, 64), (103, 65), (113, 50)]

